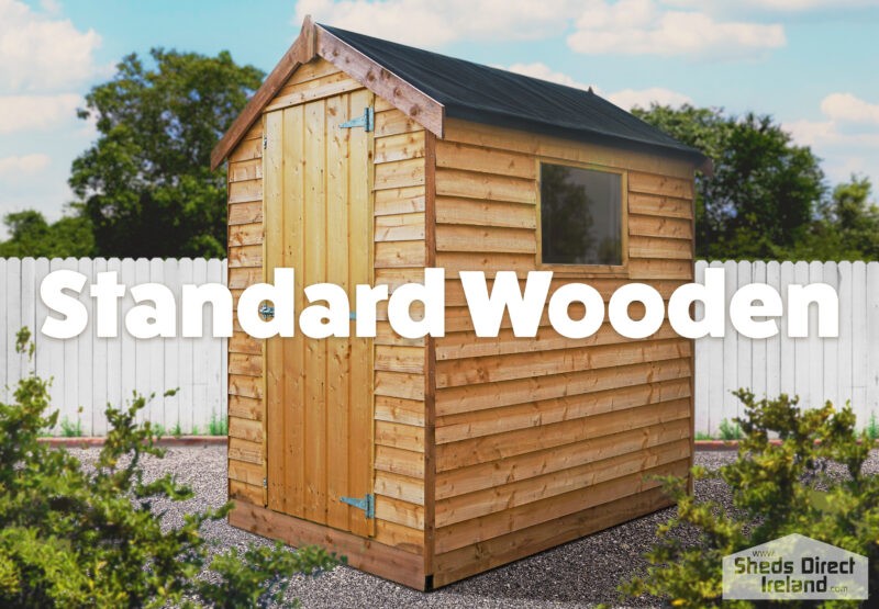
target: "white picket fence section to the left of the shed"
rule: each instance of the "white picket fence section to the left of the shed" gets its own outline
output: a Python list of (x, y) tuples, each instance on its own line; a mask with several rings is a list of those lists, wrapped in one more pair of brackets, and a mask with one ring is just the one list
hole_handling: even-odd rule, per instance
[[(40, 284), (49, 272), (59, 269), (89, 278), (79, 297), (89, 312), (89, 325), (80, 336), (68, 340), (48, 338), (38, 331), (48, 315), (40, 298)], [(78, 421), (85, 436), (103, 435), (105, 405), (119, 406), (130, 401), (135, 391), (143, 395), (156, 393), (142, 410), (143, 418), (169, 432), (179, 426), (183, 433), (205, 433), (212, 419), (223, 420), (226, 414), (225, 339), (211, 338), (210, 315), (204, 316), (203, 338), (136, 340), (122, 327), (119, 338), (98, 338), (94, 300), (89, 296), (88, 286), (103, 271), (118, 271), (119, 282), (126, 286), (147, 282), (167, 285), (179, 305), (183, 284), (225, 283), (226, 261), (0, 259), (0, 399), (9, 399), (29, 365), (35, 365), (41, 376), (53, 379), (52, 404), (60, 410), (59, 425), (53, 430), (56, 435), (62, 433), (60, 421), (71, 427)], [(134, 301), (126, 291), (120, 301), (121, 326), (132, 306)], [(31, 364), (25, 356), (15, 352), (15, 334), (22, 326), (31, 328), (36, 345)], [(179, 327), (178, 318), (178, 335)], [(164, 397), (165, 391), (171, 388), (179, 391)]]

